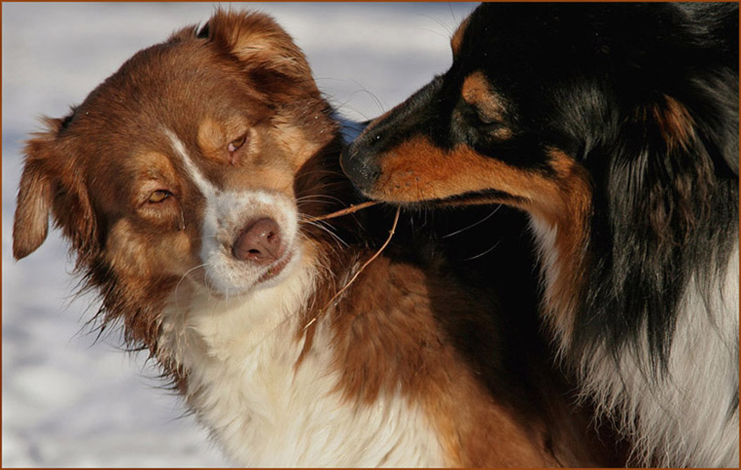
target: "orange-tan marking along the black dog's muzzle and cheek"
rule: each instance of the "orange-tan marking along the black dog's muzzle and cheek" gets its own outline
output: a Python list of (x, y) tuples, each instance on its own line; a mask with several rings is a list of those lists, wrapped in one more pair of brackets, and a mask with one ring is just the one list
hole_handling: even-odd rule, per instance
[(365, 192), (394, 203), (506, 203), (554, 221), (564, 211), (583, 213), (590, 199), (588, 175), (562, 152), (550, 155), (553, 173), (546, 175), (517, 169), (463, 145), (444, 150), (429, 139), (412, 138), (382, 155), (379, 177)]

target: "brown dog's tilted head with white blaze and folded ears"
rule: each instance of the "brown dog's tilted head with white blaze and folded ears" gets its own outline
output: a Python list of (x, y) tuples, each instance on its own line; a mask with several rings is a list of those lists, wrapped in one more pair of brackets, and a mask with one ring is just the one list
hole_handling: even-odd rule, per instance
[(28, 141), (14, 255), (37, 250), (51, 216), (140, 339), (186, 275), (221, 297), (276, 285), (303, 262), (296, 176), (336, 138), (329, 113), (270, 17), (219, 11)]

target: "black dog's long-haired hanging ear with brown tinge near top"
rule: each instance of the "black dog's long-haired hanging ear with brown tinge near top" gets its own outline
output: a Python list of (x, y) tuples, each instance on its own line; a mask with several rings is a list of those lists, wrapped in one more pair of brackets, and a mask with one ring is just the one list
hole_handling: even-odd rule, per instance
[[(646, 328), (654, 367), (668, 358), (676, 318), (666, 312), (677, 311), (687, 276), (719, 269), (718, 256), (732, 249), (728, 234), (738, 230), (738, 181), (725, 162), (737, 137), (714, 133), (708, 108), (703, 114), (668, 95), (632, 107), (610, 148), (596, 150), (605, 165), (592, 156), (597, 187), (606, 189), (594, 196), (590, 243), (611, 256), (592, 260), (588, 311), (619, 323), (595, 323), (600, 331)], [(613, 350), (624, 346), (618, 336), (608, 342)]]

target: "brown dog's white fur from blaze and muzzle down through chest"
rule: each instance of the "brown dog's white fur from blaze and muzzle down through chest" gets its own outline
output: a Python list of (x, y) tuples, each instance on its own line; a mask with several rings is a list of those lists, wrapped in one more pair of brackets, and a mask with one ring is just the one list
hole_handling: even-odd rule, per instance
[[(299, 313), (315, 288), (317, 261), (301, 247), (293, 201), (265, 191), (219, 191), (172, 133), (204, 193), (201, 256), (207, 281), (187, 277), (162, 314), (159, 353), (187, 373), (185, 398), (226, 455), (245, 466), (442, 466), (444, 453), (418, 404), (393, 394), (346, 400), (336, 387), (329, 322), (318, 321), (311, 351)], [(230, 256), (246, 220), (277, 220), (292, 261), (270, 281)], [(216, 295), (214, 295), (216, 294)], [(239, 294), (239, 295), (235, 295)]]

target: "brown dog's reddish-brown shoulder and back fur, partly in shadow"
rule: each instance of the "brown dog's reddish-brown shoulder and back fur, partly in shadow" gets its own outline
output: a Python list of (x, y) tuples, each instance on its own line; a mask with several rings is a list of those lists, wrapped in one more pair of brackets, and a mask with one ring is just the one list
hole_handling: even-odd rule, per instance
[(352, 403), (402, 393), (422, 404), (446, 465), (612, 465), (610, 453), (593, 451), (601, 444), (584, 410), (569, 404), (542, 353), (532, 352), (523, 371), (537, 377), (537, 392), (506, 372), (505, 348), (513, 345), (501, 317), (487, 313), (498, 310), (496, 301), (458, 286), (443, 267), (423, 271), (381, 256), (327, 313), (339, 392)]

